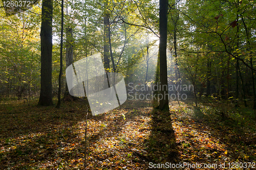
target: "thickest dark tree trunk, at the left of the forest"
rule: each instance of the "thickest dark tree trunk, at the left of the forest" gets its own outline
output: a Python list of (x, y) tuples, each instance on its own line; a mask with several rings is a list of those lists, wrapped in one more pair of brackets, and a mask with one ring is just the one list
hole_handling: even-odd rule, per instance
[(41, 14), (41, 88), (38, 105), (50, 106), (52, 102), (52, 15), (53, 1), (42, 1)]

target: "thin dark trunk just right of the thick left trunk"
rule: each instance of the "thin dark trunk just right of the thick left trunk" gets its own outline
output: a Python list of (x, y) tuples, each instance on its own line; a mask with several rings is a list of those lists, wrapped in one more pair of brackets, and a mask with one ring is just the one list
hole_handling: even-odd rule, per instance
[(64, 0), (61, 0), (61, 32), (60, 32), (60, 70), (59, 70), (59, 88), (58, 88), (58, 103), (56, 108), (60, 107), (61, 94), (61, 76), (62, 76), (62, 50), (63, 50), (63, 22), (64, 22)]

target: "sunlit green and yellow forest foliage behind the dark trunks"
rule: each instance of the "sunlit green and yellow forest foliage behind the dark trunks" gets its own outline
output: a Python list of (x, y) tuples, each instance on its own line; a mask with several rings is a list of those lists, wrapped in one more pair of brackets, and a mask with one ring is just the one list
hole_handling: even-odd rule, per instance
[[(56, 94), (61, 8), (57, 1), (53, 7), (52, 91)], [(11, 16), (1, 10), (1, 96), (33, 98), (40, 90), (41, 3)], [(100, 53), (108, 61), (105, 69), (120, 72), (126, 85), (153, 85), (158, 10), (155, 1), (66, 1), (63, 56), (71, 56), (72, 50), (75, 62)], [(199, 97), (232, 98), (244, 105), (252, 100), (255, 108), (254, 13), (254, 1), (169, 1), (168, 84), (193, 84), (195, 91), (189, 94)], [(65, 70), (65, 60), (63, 64)], [(62, 84), (65, 87), (65, 74)]]

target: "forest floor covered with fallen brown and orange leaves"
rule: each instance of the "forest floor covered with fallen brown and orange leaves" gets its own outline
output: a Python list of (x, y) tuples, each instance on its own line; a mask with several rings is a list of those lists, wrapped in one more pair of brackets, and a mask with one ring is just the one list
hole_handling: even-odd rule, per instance
[(169, 105), (169, 112), (160, 112), (147, 101), (126, 101), (108, 113), (89, 114), (86, 138), (86, 102), (57, 109), (2, 101), (0, 169), (84, 169), (86, 144), (86, 169), (256, 168), (252, 110)]

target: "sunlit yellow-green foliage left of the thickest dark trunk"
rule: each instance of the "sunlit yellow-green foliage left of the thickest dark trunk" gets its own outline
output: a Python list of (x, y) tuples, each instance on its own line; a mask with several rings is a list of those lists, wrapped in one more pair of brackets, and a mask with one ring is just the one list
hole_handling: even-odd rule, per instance
[(39, 12), (38, 6), (8, 17), (0, 12), (0, 93), (28, 104), (39, 86)]

